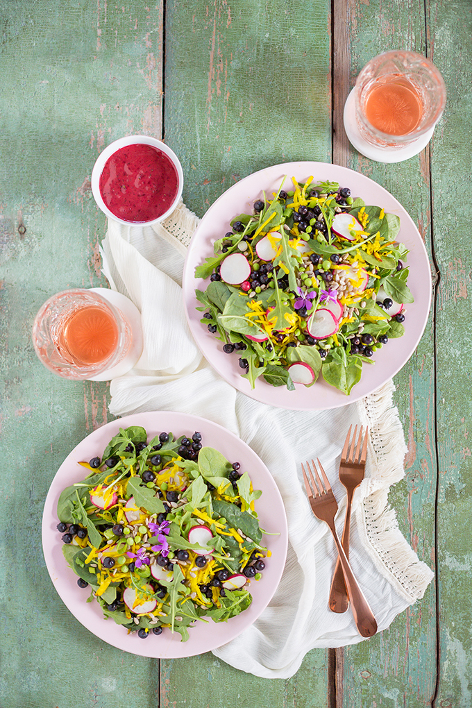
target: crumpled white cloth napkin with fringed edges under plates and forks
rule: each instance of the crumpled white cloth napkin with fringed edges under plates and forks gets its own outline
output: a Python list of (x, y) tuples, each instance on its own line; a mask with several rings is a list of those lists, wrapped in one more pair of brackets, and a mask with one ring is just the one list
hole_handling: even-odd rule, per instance
[(328, 609), (337, 553), (328, 526), (311, 513), (300, 467), (313, 455), (323, 462), (338, 499), (341, 534), (345, 489), (338, 468), (351, 423), (369, 425), (370, 440), (366, 477), (353, 504), (350, 560), (379, 631), (422, 597), (432, 571), (409, 547), (388, 507), (388, 489), (403, 477), (406, 450), (392, 382), (332, 411), (275, 409), (236, 392), (202, 357), (185, 319), (183, 261), (197, 222), (180, 203), (155, 229), (108, 223), (103, 272), (111, 287), (137, 305), (144, 330), (144, 353), (134, 370), (110, 384), (110, 412), (202, 416), (236, 433), (265, 462), (287, 510), (287, 563), (260, 618), (213, 653), (257, 676), (289, 678), (310, 649), (362, 641), (350, 610), (336, 615)]

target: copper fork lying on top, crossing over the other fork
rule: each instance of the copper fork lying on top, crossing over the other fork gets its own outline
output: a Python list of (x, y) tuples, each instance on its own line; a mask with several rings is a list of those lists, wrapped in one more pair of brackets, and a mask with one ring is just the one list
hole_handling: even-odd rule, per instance
[[(369, 603), (364, 598), (362, 590), (359, 588), (359, 584), (355, 579), (354, 573), (349, 561), (346, 558), (346, 554), (341, 545), (338, 534), (336, 533), (336, 528), (334, 525), (334, 519), (336, 512), (338, 511), (338, 503), (335, 500), (335, 496), (330, 487), (328, 477), (318, 459), (318, 467), (323, 475), (323, 482), (320, 479), (318, 470), (316, 469), (316, 464), (311, 460), (313, 465), (313, 471), (316, 475), (316, 481), (313, 479), (313, 474), (311, 473), (309, 462), (306, 462), (306, 467), (310, 475), (310, 479), (305, 472), (303, 464), (301, 465), (301, 470), (303, 472), (306, 493), (308, 494), (309, 502), (311, 504), (311, 510), (313, 514), (321, 521), (325, 521), (330, 527), (330, 531), (333, 534), (335, 544), (338, 547), (338, 553), (340, 558), (340, 563), (343, 568), (345, 583), (347, 587), (347, 592), (351, 600), (352, 614), (354, 615), (354, 621), (356, 627), (361, 636), (372, 636), (377, 631), (377, 623), (372, 610), (369, 607)], [(311, 483), (311, 484), (310, 484)]]

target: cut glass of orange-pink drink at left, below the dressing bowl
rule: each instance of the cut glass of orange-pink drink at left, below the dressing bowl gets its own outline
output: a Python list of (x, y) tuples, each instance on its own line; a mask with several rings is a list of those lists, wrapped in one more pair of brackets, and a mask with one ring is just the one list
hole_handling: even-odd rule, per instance
[(105, 380), (101, 375), (129, 355), (132, 327), (121, 310), (98, 292), (64, 290), (50, 297), (36, 315), (33, 346), (54, 374)]

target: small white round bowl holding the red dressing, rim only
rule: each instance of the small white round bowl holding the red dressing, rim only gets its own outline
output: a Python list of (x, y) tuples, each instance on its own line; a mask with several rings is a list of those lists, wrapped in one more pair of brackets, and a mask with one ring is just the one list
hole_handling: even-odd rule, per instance
[[(175, 199), (173, 200), (171, 206), (166, 212), (161, 214), (161, 216), (157, 217), (156, 219), (149, 219), (149, 221), (144, 222), (134, 222), (126, 221), (125, 219), (120, 219), (120, 217), (117, 217), (115, 214), (113, 214), (113, 212), (108, 209), (107, 205), (105, 205), (105, 202), (103, 201), (102, 195), (100, 194), (100, 175), (108, 159), (122, 147), (127, 147), (127, 145), (136, 144), (151, 145), (152, 147), (156, 147), (157, 149), (161, 150), (161, 152), (166, 154), (168, 158), (172, 161), (178, 176), (177, 194), (175, 195)], [(166, 219), (169, 215), (171, 215), (175, 207), (178, 205), (180, 197), (182, 196), (183, 171), (178, 156), (175, 154), (175, 152), (173, 152), (173, 150), (171, 150), (170, 147), (168, 147), (165, 143), (161, 142), (161, 140), (157, 140), (154, 137), (149, 137), (148, 135), (127, 135), (126, 137), (120, 137), (119, 139), (110, 143), (110, 145), (108, 145), (108, 147), (105, 147), (103, 152), (100, 153), (95, 165), (93, 166), (91, 182), (93, 198), (96, 200), (98, 207), (100, 207), (105, 216), (107, 216), (109, 219), (113, 219), (113, 221), (119, 222), (120, 224), (126, 224), (127, 226), (140, 226), (142, 224), (146, 224), (146, 226), (149, 226), (149, 224), (156, 224), (157, 222), (161, 222)]]

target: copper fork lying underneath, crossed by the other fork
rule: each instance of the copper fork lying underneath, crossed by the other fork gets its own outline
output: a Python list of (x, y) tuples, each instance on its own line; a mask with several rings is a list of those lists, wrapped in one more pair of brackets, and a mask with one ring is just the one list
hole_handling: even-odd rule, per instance
[[(349, 560), (352, 497), (354, 496), (355, 489), (357, 489), (364, 479), (365, 461), (367, 458), (367, 433), (369, 432), (369, 428), (366, 428), (363, 433), (364, 428), (361, 426), (359, 436), (357, 436), (356, 426), (352, 440), (351, 430), (352, 426), (347, 433), (339, 468), (339, 479), (347, 491), (346, 515), (343, 536), (341, 538), (347, 560)], [(329, 606), (332, 612), (345, 612), (347, 607), (349, 607), (349, 597), (344, 582), (343, 566), (341, 566), (339, 558), (336, 561), (333, 581), (331, 583)]]

